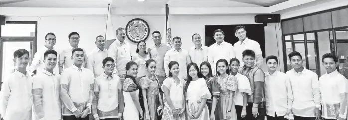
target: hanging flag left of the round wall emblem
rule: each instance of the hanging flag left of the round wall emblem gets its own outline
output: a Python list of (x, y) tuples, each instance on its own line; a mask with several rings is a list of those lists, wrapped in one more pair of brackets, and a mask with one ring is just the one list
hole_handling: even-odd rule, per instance
[(108, 49), (111, 43), (113, 43), (116, 40), (116, 31), (113, 26), (113, 20), (111, 18), (110, 11), (110, 4), (108, 4), (107, 24), (105, 28), (105, 49)]

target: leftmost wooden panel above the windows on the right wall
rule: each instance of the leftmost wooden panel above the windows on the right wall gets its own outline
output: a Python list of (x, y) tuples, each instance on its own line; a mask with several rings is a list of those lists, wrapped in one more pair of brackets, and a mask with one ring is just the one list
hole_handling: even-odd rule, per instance
[(292, 19), (282, 22), (282, 33), (291, 34), (303, 32), (303, 21), (302, 18)]

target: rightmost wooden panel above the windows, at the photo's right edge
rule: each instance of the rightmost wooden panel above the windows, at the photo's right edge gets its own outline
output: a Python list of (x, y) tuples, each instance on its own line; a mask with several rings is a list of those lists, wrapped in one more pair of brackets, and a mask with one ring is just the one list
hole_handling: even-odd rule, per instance
[(348, 26), (348, 8), (332, 11), (331, 13), (334, 28)]

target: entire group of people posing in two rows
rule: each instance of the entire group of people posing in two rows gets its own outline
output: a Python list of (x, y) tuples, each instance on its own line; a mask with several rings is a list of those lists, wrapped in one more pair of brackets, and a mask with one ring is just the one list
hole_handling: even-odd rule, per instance
[(347, 79), (337, 72), (335, 55), (323, 55), (327, 73), (319, 80), (296, 51), (288, 55), (293, 69), (278, 71), (278, 58), (270, 55), (268, 71), (262, 71), (260, 45), (246, 37), (245, 26), (234, 33), (239, 38), (234, 46), (217, 29), (210, 47), (193, 34), (195, 46), (184, 50), (180, 37), (172, 39), (172, 48), (154, 31), (154, 46), (140, 41), (131, 53), (124, 28), (118, 28), (108, 50), (104, 37), (97, 36), (88, 55), (78, 47), (78, 33), (69, 34), (71, 47), (61, 52), (48, 33), (29, 67), (29, 52), (14, 52), (15, 70), (0, 91), (0, 118), (346, 120)]

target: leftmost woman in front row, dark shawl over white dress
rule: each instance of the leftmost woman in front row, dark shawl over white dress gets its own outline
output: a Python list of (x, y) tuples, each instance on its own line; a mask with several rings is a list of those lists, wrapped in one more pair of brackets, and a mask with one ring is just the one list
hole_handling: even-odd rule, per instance
[[(124, 96), (124, 120), (139, 120), (143, 118), (143, 110), (141, 109), (139, 102), (140, 85), (136, 82), (135, 78), (138, 73), (138, 65), (130, 61), (125, 66), (126, 76), (123, 83), (123, 96)], [(141, 95), (141, 94), (140, 94)]]

